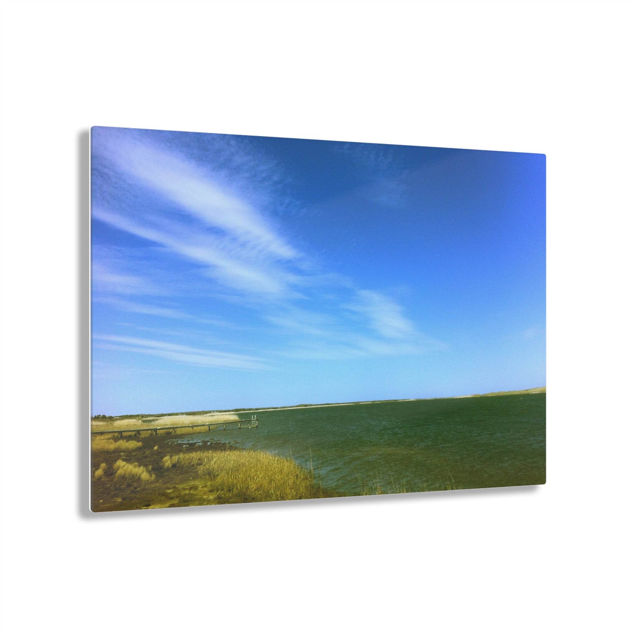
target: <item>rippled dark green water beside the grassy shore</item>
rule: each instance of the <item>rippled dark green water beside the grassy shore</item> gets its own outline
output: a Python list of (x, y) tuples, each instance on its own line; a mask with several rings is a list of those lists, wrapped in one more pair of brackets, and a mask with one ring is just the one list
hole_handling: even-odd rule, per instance
[[(225, 441), (292, 456), (345, 494), (545, 482), (545, 394), (256, 412), (259, 427), (181, 441)], [(242, 419), (248, 419), (243, 413)]]

